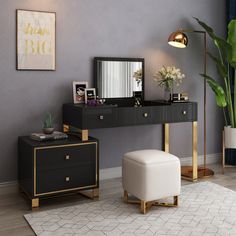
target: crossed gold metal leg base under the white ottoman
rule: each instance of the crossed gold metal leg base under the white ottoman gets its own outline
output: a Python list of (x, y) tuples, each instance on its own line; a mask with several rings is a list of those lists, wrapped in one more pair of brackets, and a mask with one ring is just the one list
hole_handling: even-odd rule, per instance
[(146, 214), (148, 210), (152, 206), (163, 206), (163, 207), (178, 207), (179, 204), (179, 196), (173, 197), (173, 203), (159, 202), (159, 201), (143, 201), (143, 200), (130, 200), (129, 194), (125, 190), (124, 191), (124, 202), (131, 204), (140, 204), (140, 211), (143, 214)]

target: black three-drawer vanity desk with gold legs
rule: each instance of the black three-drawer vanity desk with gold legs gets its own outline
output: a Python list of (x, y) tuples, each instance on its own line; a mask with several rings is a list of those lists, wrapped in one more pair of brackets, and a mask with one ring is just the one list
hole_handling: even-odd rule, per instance
[(77, 128), (82, 141), (88, 140), (89, 129), (112, 128), (134, 125), (163, 124), (164, 151), (169, 152), (170, 123), (192, 123), (192, 167), (182, 167), (182, 177), (196, 181), (197, 176), (197, 103), (160, 103), (144, 101), (142, 107), (129, 104), (87, 106), (63, 105), (63, 131)]

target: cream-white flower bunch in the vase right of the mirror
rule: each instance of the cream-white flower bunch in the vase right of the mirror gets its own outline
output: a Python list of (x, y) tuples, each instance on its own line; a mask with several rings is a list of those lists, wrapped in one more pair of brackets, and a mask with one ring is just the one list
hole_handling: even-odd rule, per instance
[(160, 87), (164, 87), (169, 92), (172, 92), (174, 85), (179, 86), (184, 77), (185, 75), (181, 73), (179, 68), (163, 66), (154, 74), (154, 81), (156, 81)]

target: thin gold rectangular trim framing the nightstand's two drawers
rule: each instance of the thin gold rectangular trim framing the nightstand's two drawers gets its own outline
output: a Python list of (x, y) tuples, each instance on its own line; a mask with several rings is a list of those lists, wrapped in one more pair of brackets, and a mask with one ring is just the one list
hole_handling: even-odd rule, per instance
[[(95, 144), (96, 145), (96, 184), (95, 185), (88, 185), (78, 188), (70, 188), (70, 189), (63, 189), (63, 190), (57, 190), (57, 191), (51, 191), (51, 192), (45, 192), (45, 193), (36, 193), (37, 190), (37, 180), (36, 180), (36, 173), (37, 173), (37, 167), (36, 167), (36, 151), (41, 149), (51, 149), (51, 148), (63, 148), (63, 147), (74, 147), (74, 146), (81, 146), (81, 145), (90, 145)], [(87, 143), (76, 143), (76, 144), (67, 144), (67, 145), (55, 145), (55, 146), (46, 146), (46, 147), (36, 147), (34, 148), (34, 196), (44, 196), (48, 194), (55, 194), (55, 193), (63, 193), (63, 192), (69, 192), (74, 190), (81, 190), (85, 188), (93, 188), (98, 186), (98, 144), (97, 142), (87, 142)]]

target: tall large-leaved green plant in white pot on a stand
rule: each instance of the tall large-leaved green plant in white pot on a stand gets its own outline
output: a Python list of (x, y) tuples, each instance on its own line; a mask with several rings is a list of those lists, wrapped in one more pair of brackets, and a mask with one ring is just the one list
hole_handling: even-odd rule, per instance
[[(223, 79), (223, 85), (207, 74), (201, 74), (215, 93), (216, 104), (223, 109), (225, 127), (225, 147), (236, 149), (236, 20), (228, 24), (227, 40), (215, 35), (214, 30), (204, 22), (195, 18), (213, 40), (218, 55), (207, 52), (216, 64), (217, 71)], [(232, 85), (234, 84), (234, 89)], [(232, 95), (233, 94), (233, 95)], [(235, 150), (236, 152), (236, 150)], [(236, 156), (226, 156), (226, 163), (236, 165)]]

